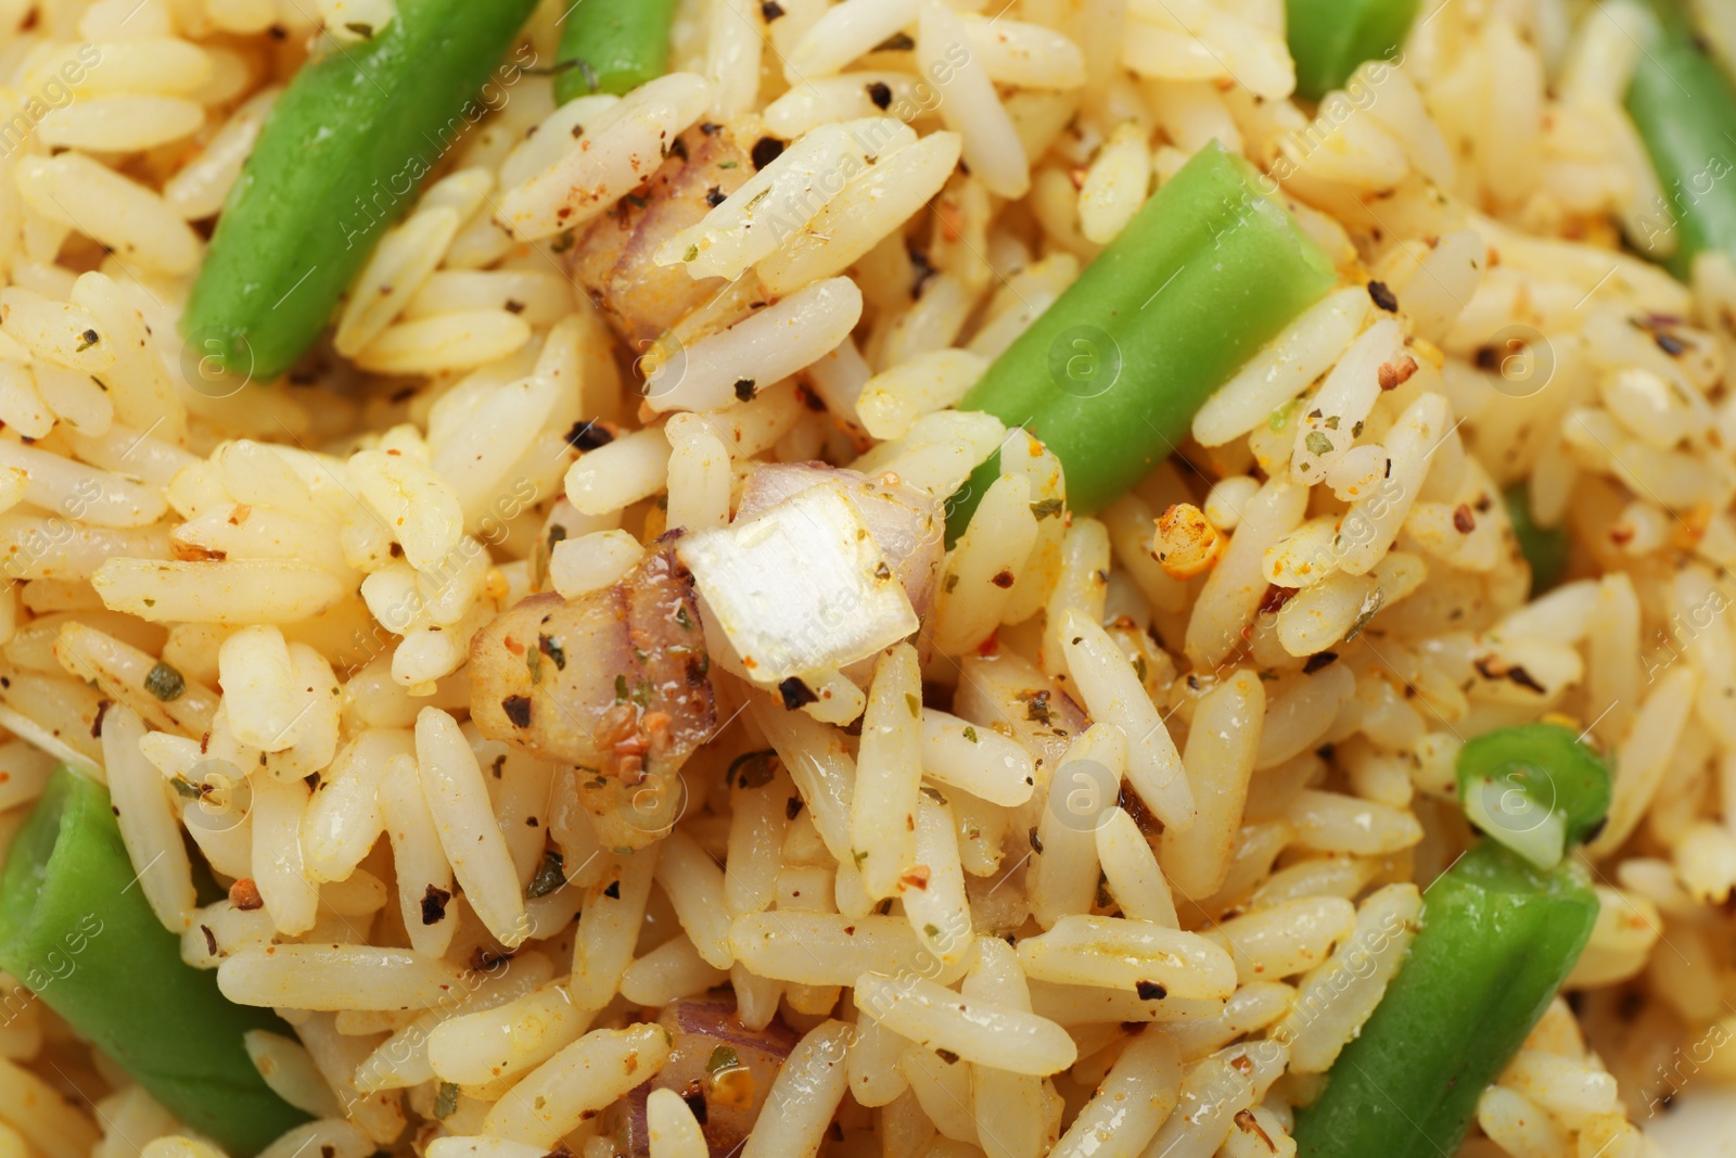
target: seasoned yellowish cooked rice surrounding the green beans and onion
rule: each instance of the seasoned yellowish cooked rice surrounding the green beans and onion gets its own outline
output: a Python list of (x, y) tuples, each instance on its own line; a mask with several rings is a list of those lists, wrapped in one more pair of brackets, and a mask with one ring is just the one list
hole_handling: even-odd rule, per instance
[[(1467, 840), (1458, 748), (1547, 715), (1614, 753), (1602, 911), (1463, 1153), (1663, 1153), (1635, 1123), (1736, 1076), (1701, 1056), (1736, 889), (1736, 271), (1613, 248), (1674, 245), (1628, 9), (1427, 7), (1309, 115), (1274, 0), (681, 3), (637, 92), (556, 108), (523, 75), (335, 358), (267, 385), (175, 337), (207, 224), (304, 43), (392, 3), (0, 3), (0, 840), (54, 762), (106, 780), (186, 960), (293, 1028), (248, 1040), (316, 1118), (269, 1158), (602, 1158), (628, 1122), (698, 1158), (658, 1075), (691, 1076), (670, 1010), (726, 986), (731, 1033), (790, 1050), (745, 1158), (1267, 1158)], [(701, 122), (788, 148), (663, 245), (710, 292), (628, 347), (573, 252)], [(1038, 443), (953, 408), (1213, 139), (1344, 285), (1075, 516)], [(811, 705), (719, 675), (675, 807), (628, 790), (665, 821), (639, 844), (585, 767), (469, 720), (477, 632), (729, 526), (760, 467), (946, 502), (996, 453), (924, 630), (799, 672)], [(1536, 601), (1517, 481), (1575, 543)], [(264, 906), (201, 905), (200, 858)], [(0, 991), (0, 1153), (215, 1156)]]

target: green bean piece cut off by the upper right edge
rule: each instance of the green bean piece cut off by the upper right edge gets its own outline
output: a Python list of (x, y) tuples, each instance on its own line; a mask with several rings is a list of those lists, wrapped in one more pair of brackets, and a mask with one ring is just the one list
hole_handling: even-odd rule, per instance
[[(1647, 222), (1637, 248), (1687, 281), (1700, 253), (1713, 250), (1736, 260), (1736, 186), (1729, 181), (1736, 87), (1674, 0), (1653, 0), (1651, 9), (1658, 31), (1634, 64), (1627, 109), (1668, 205), (1658, 207), (1661, 219)], [(1656, 241), (1670, 217), (1675, 250), (1665, 253)]]

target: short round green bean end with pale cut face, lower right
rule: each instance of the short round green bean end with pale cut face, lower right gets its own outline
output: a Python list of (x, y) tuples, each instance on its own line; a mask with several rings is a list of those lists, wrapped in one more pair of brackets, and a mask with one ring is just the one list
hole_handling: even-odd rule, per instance
[(1609, 767), (1559, 724), (1500, 727), (1460, 750), (1458, 799), (1491, 840), (1554, 868), (1602, 828)]

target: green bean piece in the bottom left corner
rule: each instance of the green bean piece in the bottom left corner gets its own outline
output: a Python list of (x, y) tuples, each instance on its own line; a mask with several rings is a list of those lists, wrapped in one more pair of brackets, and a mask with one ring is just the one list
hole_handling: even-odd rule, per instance
[(229, 1155), (255, 1155), (307, 1118), (266, 1087), (241, 1043), (248, 1030), (290, 1030), (182, 964), (135, 887), (108, 790), (71, 769), (49, 780), (12, 840), (0, 967)]

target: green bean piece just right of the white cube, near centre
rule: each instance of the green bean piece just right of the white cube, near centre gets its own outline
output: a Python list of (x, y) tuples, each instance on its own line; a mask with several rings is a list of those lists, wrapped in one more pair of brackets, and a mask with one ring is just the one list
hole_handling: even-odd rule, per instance
[[(1194, 411), (1337, 281), (1332, 262), (1217, 142), (1200, 149), (965, 394), (1023, 425), (1066, 472), (1068, 505), (1101, 510), (1167, 458)], [(948, 516), (960, 533), (1000, 462)]]

